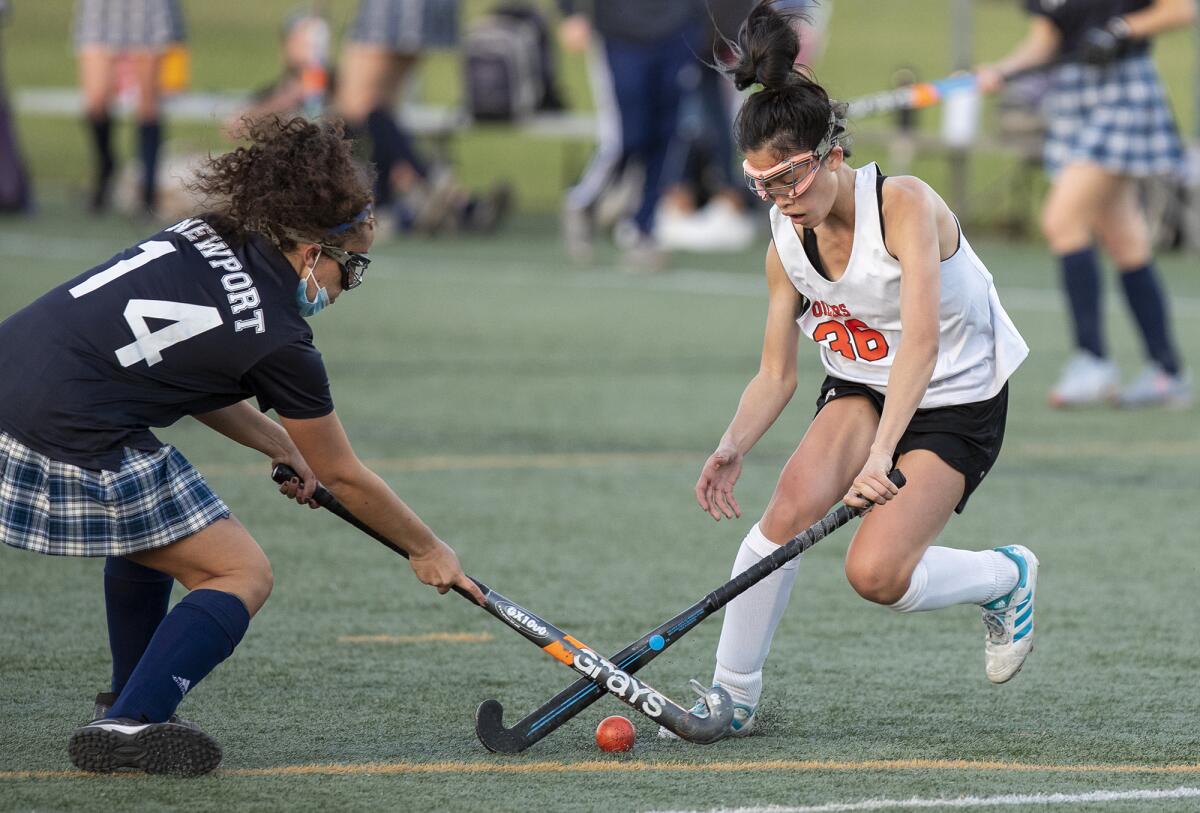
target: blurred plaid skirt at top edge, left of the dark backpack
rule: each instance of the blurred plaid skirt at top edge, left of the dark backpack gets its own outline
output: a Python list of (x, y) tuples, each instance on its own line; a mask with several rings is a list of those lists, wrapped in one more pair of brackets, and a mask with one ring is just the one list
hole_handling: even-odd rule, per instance
[(359, 0), (350, 42), (401, 54), (458, 44), (458, 0)]

